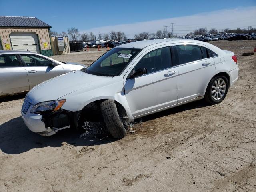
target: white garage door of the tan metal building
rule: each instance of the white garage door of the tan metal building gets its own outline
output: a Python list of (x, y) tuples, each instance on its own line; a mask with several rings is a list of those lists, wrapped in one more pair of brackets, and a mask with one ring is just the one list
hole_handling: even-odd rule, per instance
[(29, 32), (12, 32), (10, 34), (12, 49), (19, 51), (31, 51), (40, 53), (38, 45), (38, 36), (36, 33)]

